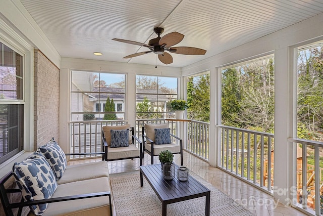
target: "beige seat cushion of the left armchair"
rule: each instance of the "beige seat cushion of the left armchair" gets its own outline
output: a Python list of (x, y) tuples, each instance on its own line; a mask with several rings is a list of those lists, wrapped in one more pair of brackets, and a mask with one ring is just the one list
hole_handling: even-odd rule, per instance
[(107, 159), (120, 159), (120, 158), (129, 158), (129, 157), (139, 157), (140, 150), (134, 145), (129, 144), (128, 147), (118, 147), (111, 148), (107, 147)]

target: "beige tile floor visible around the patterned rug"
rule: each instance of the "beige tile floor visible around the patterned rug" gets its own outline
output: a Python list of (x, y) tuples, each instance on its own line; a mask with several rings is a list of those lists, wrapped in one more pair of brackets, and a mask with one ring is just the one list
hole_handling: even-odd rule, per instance
[[(242, 204), (249, 211), (257, 216), (299, 216), (306, 215), (297, 209), (285, 206), (277, 202), (271, 195), (258, 190), (257, 188), (235, 178), (227, 172), (210, 166), (207, 162), (184, 152), (184, 166), (188, 167), (195, 174), (199, 175), (214, 187), (229, 195), (231, 198)], [(98, 161), (97, 159), (74, 160), (68, 164)], [(175, 155), (174, 162), (180, 164), (179, 155)], [(154, 163), (160, 163), (158, 157), (154, 157)], [(145, 154), (143, 165), (150, 164), (150, 156)], [(109, 162), (110, 174), (126, 172), (139, 169), (139, 159), (117, 160)]]

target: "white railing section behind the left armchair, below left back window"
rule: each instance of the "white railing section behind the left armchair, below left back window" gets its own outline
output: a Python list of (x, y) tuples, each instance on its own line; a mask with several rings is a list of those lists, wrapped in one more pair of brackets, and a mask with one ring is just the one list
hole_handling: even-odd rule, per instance
[[(70, 153), (102, 152), (102, 126), (124, 125), (126, 120), (70, 122)], [(102, 155), (71, 156), (71, 159), (101, 157)]]

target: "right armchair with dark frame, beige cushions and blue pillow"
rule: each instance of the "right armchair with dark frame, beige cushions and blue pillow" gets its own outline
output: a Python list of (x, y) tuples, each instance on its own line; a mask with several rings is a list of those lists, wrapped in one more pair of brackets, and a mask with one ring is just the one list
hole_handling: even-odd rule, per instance
[[(151, 164), (153, 164), (153, 156), (159, 155), (163, 150), (169, 150), (173, 154), (181, 154), (181, 166), (183, 165), (183, 141), (173, 134), (169, 134), (169, 138), (174, 137), (179, 141), (179, 145), (173, 142), (160, 143), (156, 142), (155, 129), (169, 129), (169, 125), (166, 124), (145, 124), (142, 127), (142, 158), (144, 152), (147, 152), (151, 156)], [(158, 132), (158, 131), (157, 131)], [(157, 140), (159, 140), (157, 138)], [(163, 139), (161, 139), (163, 140)]]

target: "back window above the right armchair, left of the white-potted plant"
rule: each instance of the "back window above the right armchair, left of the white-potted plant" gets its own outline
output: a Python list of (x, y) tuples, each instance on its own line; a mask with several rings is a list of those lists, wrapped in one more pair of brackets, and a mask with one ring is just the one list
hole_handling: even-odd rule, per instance
[(178, 98), (175, 77), (144, 76), (136, 78), (136, 118), (173, 118), (171, 101)]

